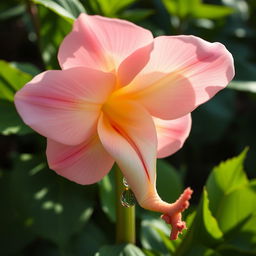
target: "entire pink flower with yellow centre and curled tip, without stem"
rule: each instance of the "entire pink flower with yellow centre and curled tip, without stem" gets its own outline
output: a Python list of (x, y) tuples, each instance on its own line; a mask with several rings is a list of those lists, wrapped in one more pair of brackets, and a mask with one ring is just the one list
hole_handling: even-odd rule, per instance
[(194, 36), (153, 39), (130, 22), (81, 14), (58, 59), (62, 70), (39, 74), (15, 96), (24, 122), (47, 137), (50, 168), (91, 184), (117, 162), (139, 204), (163, 213), (176, 239), (192, 190), (163, 202), (156, 158), (182, 147), (190, 112), (233, 78), (231, 54)]

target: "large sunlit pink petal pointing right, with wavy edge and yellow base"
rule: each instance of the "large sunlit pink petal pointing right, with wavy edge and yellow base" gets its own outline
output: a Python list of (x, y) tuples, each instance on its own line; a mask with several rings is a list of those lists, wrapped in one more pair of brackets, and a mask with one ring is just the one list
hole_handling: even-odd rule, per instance
[(232, 55), (220, 43), (194, 36), (154, 40), (145, 68), (117, 95), (142, 103), (153, 115), (176, 119), (223, 89), (234, 76)]

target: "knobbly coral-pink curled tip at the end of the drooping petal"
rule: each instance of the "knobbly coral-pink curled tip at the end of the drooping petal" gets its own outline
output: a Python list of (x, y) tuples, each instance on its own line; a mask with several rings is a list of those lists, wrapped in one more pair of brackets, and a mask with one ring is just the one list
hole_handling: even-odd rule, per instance
[(191, 188), (186, 188), (178, 200), (170, 205), (169, 211), (161, 216), (167, 224), (172, 226), (171, 240), (176, 240), (179, 233), (187, 228), (185, 221), (181, 219), (181, 213), (189, 207), (188, 200), (191, 198), (192, 193), (193, 190)]

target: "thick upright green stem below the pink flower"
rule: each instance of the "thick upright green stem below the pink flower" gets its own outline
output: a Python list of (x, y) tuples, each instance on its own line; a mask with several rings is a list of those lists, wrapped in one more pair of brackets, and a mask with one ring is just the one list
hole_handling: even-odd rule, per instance
[(121, 204), (121, 194), (125, 190), (123, 175), (116, 165), (116, 243), (135, 243), (135, 207), (124, 207)]

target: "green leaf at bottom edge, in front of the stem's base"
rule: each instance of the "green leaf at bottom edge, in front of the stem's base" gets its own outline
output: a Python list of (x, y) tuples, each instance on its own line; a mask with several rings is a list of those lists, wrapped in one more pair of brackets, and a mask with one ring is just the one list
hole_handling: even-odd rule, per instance
[(145, 256), (145, 254), (133, 244), (109, 245), (102, 247), (95, 256)]

